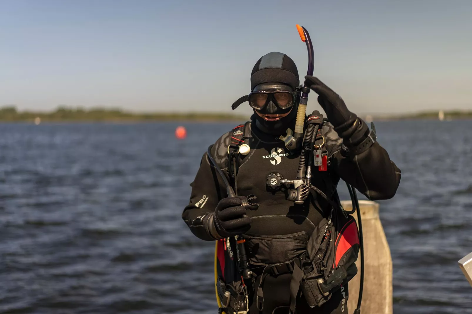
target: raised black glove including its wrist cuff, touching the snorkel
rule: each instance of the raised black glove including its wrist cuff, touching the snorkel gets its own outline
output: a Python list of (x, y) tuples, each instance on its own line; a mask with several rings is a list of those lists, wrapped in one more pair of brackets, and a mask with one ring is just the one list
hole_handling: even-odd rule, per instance
[(326, 112), (326, 116), (339, 137), (343, 138), (348, 147), (361, 143), (369, 135), (369, 128), (357, 118), (355, 113), (347, 109), (344, 100), (317, 77), (305, 76), (305, 84), (310, 86), (318, 96), (318, 103)]

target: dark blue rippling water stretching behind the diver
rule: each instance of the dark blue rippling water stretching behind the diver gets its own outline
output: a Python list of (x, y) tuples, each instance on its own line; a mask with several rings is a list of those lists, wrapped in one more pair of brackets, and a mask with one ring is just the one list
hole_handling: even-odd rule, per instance
[[(230, 124), (0, 124), (0, 313), (216, 313), (213, 242), (180, 218)], [(472, 121), (377, 123), (394, 312), (472, 313)], [(341, 198), (347, 199), (344, 185)]]

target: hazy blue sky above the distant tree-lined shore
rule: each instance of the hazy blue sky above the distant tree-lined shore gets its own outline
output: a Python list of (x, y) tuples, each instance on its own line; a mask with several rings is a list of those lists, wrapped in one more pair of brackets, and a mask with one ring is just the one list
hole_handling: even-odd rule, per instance
[(300, 24), (354, 112), (472, 109), (471, 19), (471, 0), (5, 0), (0, 106), (229, 112), (270, 51), (306, 74)]

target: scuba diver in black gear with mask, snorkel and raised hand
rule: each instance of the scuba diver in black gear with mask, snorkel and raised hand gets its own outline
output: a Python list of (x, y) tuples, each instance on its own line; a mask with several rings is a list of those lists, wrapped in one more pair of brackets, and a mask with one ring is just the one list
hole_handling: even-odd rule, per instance
[[(287, 55), (261, 57), (250, 81), (233, 109), (248, 101), (251, 121), (203, 155), (182, 214), (195, 236), (216, 240), (219, 313), (347, 314), (360, 239), (337, 183), (388, 199), (401, 172), (337, 93), (312, 75), (300, 85)], [(305, 115), (310, 90), (327, 117)]]

